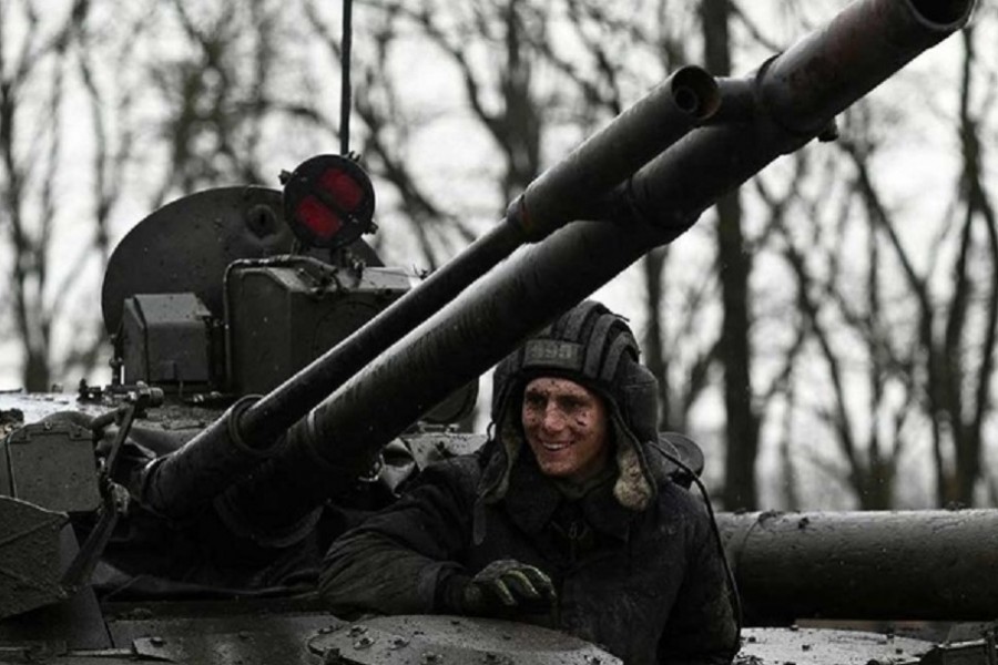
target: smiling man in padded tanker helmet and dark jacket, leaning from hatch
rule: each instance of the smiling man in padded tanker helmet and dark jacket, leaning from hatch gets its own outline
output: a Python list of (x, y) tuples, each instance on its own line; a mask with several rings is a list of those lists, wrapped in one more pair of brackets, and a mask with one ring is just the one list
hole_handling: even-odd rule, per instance
[(624, 320), (582, 303), (493, 380), (490, 441), (427, 468), (333, 544), (330, 607), (516, 618), (629, 665), (730, 663), (722, 555), (703, 505), (670, 478), (656, 382)]

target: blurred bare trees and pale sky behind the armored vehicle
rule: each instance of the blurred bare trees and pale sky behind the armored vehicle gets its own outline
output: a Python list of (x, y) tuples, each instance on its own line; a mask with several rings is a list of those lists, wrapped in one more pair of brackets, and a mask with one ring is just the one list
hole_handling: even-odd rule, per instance
[[(842, 0), (356, 0), (349, 143), (431, 270), (686, 63), (746, 74)], [(115, 243), (338, 152), (340, 3), (0, 0), (0, 387), (106, 382)], [(998, 8), (599, 293), (725, 509), (998, 505)]]

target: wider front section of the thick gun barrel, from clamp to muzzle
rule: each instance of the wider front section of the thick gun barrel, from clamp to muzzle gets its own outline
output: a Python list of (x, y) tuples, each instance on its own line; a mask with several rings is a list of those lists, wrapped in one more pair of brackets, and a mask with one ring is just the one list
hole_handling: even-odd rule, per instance
[(853, 2), (754, 74), (722, 80), (715, 126), (642, 168), (613, 201), (619, 209), (604, 214), (633, 207), (670, 228), (689, 227), (719, 193), (833, 129), (839, 112), (964, 25), (972, 8), (974, 0)]

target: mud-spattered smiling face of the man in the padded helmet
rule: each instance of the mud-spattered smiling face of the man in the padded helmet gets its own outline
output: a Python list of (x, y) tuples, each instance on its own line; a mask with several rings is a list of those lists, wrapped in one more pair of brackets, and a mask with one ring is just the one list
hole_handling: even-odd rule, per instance
[(584, 386), (568, 379), (533, 379), (523, 390), (521, 420), (546, 475), (581, 482), (607, 464), (607, 407)]

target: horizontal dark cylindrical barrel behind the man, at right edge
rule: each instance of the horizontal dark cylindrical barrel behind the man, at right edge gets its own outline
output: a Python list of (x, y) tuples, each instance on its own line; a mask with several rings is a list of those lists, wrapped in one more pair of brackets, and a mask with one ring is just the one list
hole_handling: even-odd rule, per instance
[(746, 617), (991, 621), (998, 511), (722, 513)]

